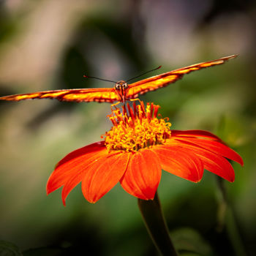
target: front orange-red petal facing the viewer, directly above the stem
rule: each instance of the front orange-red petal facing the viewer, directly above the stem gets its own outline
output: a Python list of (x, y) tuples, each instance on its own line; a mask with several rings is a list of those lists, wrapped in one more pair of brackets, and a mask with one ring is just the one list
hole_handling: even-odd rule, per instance
[(154, 199), (161, 174), (157, 154), (144, 148), (131, 155), (127, 171), (120, 183), (126, 192), (135, 197)]

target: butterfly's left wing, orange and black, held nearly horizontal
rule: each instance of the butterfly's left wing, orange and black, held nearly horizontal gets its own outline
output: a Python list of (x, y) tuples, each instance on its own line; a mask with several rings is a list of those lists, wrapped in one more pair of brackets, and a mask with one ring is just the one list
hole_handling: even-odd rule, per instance
[(14, 94), (0, 97), (2, 100), (20, 101), (23, 99), (59, 99), (65, 102), (115, 102), (118, 94), (112, 88), (67, 89), (55, 91), (38, 91), (31, 94)]

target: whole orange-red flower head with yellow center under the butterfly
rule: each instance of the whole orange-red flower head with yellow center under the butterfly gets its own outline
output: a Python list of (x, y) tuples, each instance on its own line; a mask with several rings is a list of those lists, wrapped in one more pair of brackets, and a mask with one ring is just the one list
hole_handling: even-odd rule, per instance
[(168, 118), (157, 118), (159, 106), (143, 102), (108, 116), (113, 127), (104, 140), (67, 154), (48, 179), (47, 193), (63, 186), (62, 201), (82, 182), (86, 200), (95, 203), (118, 181), (129, 194), (152, 200), (162, 170), (198, 182), (206, 169), (233, 182), (227, 159), (243, 165), (241, 157), (211, 132), (171, 130)]

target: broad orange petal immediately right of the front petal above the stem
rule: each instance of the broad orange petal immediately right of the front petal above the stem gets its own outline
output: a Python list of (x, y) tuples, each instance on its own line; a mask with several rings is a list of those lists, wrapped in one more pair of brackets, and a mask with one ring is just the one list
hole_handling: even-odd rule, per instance
[(200, 158), (181, 146), (159, 145), (152, 148), (157, 153), (161, 167), (168, 173), (198, 182), (203, 177), (203, 164)]

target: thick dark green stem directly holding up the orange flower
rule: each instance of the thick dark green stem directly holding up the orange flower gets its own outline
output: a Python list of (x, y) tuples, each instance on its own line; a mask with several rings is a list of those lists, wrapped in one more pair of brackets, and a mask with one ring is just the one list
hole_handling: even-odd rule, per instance
[(148, 233), (157, 249), (159, 249), (159, 252), (161, 252), (163, 256), (178, 256), (176, 249), (170, 240), (157, 192), (154, 200), (142, 200), (139, 198), (138, 206)]

